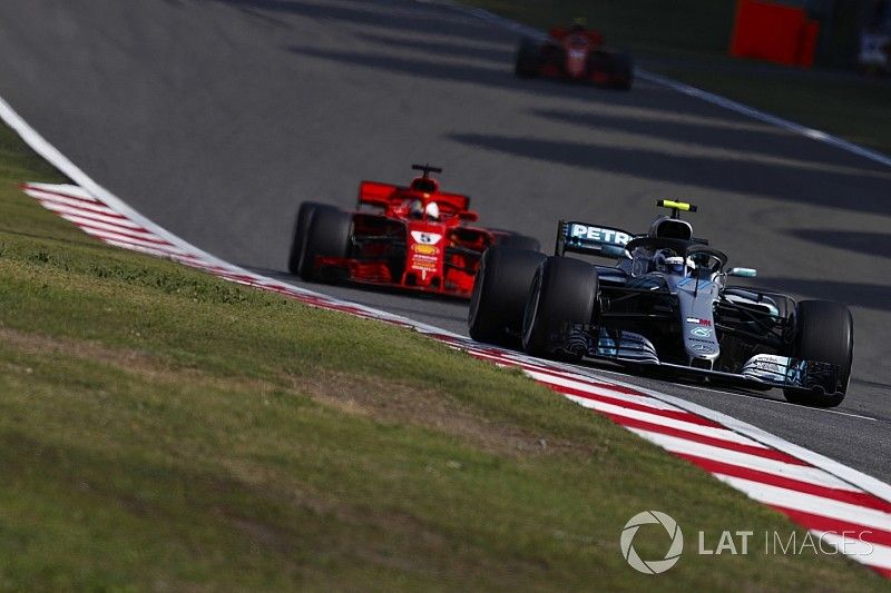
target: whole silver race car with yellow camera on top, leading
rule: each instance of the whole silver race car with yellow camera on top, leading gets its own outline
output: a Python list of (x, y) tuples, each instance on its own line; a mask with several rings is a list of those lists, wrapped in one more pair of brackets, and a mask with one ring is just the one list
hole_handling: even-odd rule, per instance
[[(840, 303), (728, 286), (755, 277), (693, 236), (681, 211), (644, 235), (560, 220), (555, 255), (510, 247), (483, 254), (470, 302), (470, 336), (550, 358), (611, 360), (831, 407), (848, 391), (853, 319)], [(614, 258), (599, 266), (567, 254)]]

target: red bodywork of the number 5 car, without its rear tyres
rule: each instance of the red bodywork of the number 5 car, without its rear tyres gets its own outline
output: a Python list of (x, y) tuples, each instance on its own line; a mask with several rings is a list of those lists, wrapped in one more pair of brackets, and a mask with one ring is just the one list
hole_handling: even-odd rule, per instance
[[(412, 216), (412, 202), (424, 213), (431, 202), (439, 217)], [(440, 191), (429, 177), (409, 187), (378, 181), (359, 186), (349, 257), (316, 257), (323, 275), (352, 283), (390, 286), (470, 298), (480, 257), (506, 231), (467, 226), (477, 220), (470, 198)]]

